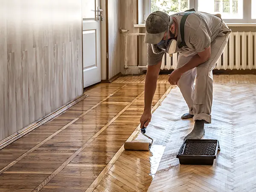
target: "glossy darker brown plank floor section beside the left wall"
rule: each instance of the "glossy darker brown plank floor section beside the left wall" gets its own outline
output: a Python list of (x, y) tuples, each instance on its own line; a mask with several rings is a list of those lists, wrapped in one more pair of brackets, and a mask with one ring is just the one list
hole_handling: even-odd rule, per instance
[[(157, 86), (154, 105), (169, 87)], [(84, 192), (90, 186), (139, 125), (144, 86), (98, 84), (86, 94), (0, 150), (0, 192)]]

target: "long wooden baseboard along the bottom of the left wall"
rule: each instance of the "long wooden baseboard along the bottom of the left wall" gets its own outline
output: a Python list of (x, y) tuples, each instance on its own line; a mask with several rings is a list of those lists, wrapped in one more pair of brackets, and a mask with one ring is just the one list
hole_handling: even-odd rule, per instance
[(51, 120), (51, 119), (55, 118), (56, 116), (60, 115), (61, 113), (63, 113), (67, 109), (73, 107), (74, 105), (79, 103), (81, 100), (85, 99), (86, 97), (87, 97), (87, 95), (83, 94), (83, 95), (77, 97), (76, 99), (73, 99), (72, 101), (70, 101), (67, 104), (63, 105), (62, 107), (56, 109), (52, 113), (49, 113), (48, 115), (38, 119), (37, 121), (31, 123), (30, 125), (22, 128), (22, 129), (20, 129), (19, 131), (10, 135), (9, 137), (6, 137), (5, 139), (1, 140), (0, 141), (0, 150), (2, 148), (6, 147), (7, 145), (13, 143), (14, 141), (19, 139), (20, 137), (23, 137), (24, 135), (28, 134), (30, 131), (33, 131), (35, 128), (38, 128), (39, 126), (43, 125), (44, 123), (48, 122), (49, 120)]

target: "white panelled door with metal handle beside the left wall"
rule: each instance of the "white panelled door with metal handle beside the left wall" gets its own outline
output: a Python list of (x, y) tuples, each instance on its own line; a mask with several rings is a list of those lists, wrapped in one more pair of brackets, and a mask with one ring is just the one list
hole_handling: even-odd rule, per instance
[(101, 81), (100, 0), (82, 0), (84, 87)]

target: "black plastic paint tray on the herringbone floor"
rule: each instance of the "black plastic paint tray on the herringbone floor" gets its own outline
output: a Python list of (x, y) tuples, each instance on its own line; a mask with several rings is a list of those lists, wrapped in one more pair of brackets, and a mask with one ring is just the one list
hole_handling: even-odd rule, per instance
[(183, 142), (176, 157), (183, 165), (212, 165), (218, 149), (218, 140), (188, 139)]

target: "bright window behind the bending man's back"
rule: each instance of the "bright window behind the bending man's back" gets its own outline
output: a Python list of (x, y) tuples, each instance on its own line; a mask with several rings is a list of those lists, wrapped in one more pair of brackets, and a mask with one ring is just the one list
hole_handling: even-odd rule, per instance
[(195, 8), (197, 11), (221, 14), (226, 23), (256, 23), (256, 0), (143, 0), (144, 22), (154, 11), (169, 15)]

